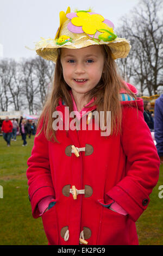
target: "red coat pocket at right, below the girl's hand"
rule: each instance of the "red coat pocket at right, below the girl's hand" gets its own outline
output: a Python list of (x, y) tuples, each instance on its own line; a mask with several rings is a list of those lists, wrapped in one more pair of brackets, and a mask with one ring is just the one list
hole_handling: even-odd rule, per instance
[(118, 214), (101, 204), (98, 245), (129, 245), (129, 229), (128, 215)]

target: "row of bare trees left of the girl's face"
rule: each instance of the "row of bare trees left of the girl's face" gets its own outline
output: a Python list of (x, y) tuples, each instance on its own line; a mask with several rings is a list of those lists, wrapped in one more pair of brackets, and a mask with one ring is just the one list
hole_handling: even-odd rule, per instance
[(29, 109), (30, 114), (42, 109), (52, 83), (54, 64), (37, 57), (3, 59), (0, 62), (0, 109)]

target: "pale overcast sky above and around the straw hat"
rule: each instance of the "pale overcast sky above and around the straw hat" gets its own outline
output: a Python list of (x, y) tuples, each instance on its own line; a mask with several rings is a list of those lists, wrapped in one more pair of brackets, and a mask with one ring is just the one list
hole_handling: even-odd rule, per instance
[(0, 0), (0, 59), (35, 57), (34, 42), (40, 38), (54, 38), (59, 27), (59, 12), (70, 6), (86, 10), (92, 8), (116, 27), (121, 17), (129, 15), (139, 0)]

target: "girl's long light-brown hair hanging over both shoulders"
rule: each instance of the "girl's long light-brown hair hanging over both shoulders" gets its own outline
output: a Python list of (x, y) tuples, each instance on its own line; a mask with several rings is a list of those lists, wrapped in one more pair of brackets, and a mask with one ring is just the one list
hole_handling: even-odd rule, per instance
[[(96, 87), (91, 89), (89, 92), (85, 94), (89, 100), (92, 98), (95, 101), (89, 105), (89, 107), (96, 105), (96, 111), (104, 111), (105, 113), (105, 124), (106, 124), (106, 111), (111, 112), (111, 133), (121, 132), (121, 121), (122, 121), (122, 108), (119, 99), (120, 90), (123, 88), (126, 92), (134, 97), (136, 100), (136, 95), (131, 92), (127, 86), (123, 82), (123, 78), (121, 77), (116, 62), (111, 56), (111, 50), (108, 46), (101, 45), (104, 52), (104, 72), (102, 73), (101, 80), (97, 84)], [(47, 99), (45, 106), (43, 107), (42, 114), (37, 123), (37, 127), (42, 123), (42, 130), (45, 132), (45, 136), (48, 141), (51, 141), (54, 138), (54, 141), (58, 142), (56, 138), (56, 133), (53, 130), (52, 124), (54, 118), (52, 118), (52, 114), (56, 111), (56, 107), (59, 104), (60, 98), (64, 100), (66, 106), (69, 107), (70, 112), (73, 111), (73, 102), (69, 91), (71, 88), (66, 84), (63, 74), (62, 74), (62, 66), (60, 60), (60, 53), (58, 53), (57, 63), (55, 65), (54, 72), (54, 81), (51, 96)]]

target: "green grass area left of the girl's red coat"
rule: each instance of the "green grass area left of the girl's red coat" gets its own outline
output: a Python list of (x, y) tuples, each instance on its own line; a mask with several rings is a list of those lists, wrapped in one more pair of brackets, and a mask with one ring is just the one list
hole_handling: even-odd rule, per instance
[(0, 245), (47, 245), (41, 218), (34, 219), (28, 199), (27, 159), (31, 154), (34, 136), (27, 137), (22, 147), (21, 136), (11, 141), (11, 147), (0, 137)]

